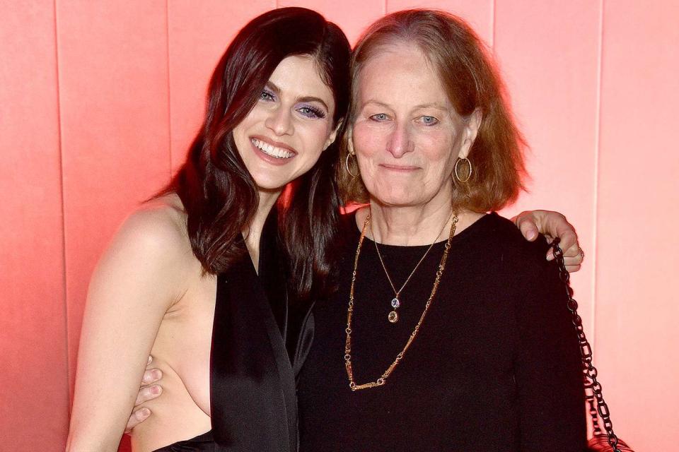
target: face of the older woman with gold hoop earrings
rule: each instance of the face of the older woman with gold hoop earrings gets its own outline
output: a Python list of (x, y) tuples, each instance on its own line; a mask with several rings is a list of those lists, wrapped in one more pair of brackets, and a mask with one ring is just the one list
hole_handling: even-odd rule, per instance
[(455, 112), (429, 61), (408, 44), (376, 52), (358, 90), (349, 143), (371, 199), (385, 206), (449, 202), (455, 161), (468, 155), (480, 117)]

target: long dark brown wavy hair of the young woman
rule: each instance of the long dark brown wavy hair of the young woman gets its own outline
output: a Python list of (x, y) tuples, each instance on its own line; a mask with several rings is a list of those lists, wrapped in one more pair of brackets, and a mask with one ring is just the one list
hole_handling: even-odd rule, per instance
[[(207, 112), (187, 160), (163, 193), (176, 193), (187, 214), (193, 253), (207, 273), (227, 270), (246, 252), (247, 229), (259, 197), (233, 141), (233, 128), (260, 97), (278, 64), (308, 55), (335, 99), (333, 126), (349, 102), (347, 37), (337, 25), (306, 8), (280, 8), (245, 25), (212, 74)], [(342, 131), (340, 130), (338, 136)], [(332, 263), (327, 250), (335, 238), (340, 198), (335, 182), (339, 145), (332, 143), (318, 162), (294, 183), (279, 237), (289, 264), (289, 286), (297, 299), (325, 294)]]

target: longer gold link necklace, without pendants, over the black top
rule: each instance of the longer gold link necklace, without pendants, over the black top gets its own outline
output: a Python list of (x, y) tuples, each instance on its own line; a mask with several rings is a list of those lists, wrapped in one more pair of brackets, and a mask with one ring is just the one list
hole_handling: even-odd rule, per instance
[(354, 313), (354, 285), (356, 284), (356, 268), (358, 268), (359, 266), (359, 255), (361, 254), (361, 246), (363, 245), (363, 239), (366, 237), (366, 228), (368, 227), (369, 223), (370, 214), (368, 214), (368, 217), (366, 218), (366, 221), (363, 224), (363, 229), (361, 230), (361, 238), (359, 239), (359, 246), (356, 248), (356, 257), (354, 258), (354, 273), (352, 273), (352, 288), (349, 291), (349, 309), (347, 309), (347, 329), (345, 330), (347, 332), (347, 342), (344, 343), (344, 367), (347, 368), (347, 377), (349, 378), (349, 388), (352, 388), (352, 391), (382, 386), (387, 381), (388, 377), (394, 371), (394, 369), (401, 361), (401, 359), (403, 359), (403, 357), (405, 356), (405, 352), (408, 350), (410, 344), (412, 344), (412, 341), (417, 336), (419, 328), (420, 326), (422, 326), (422, 322), (424, 321), (424, 317), (426, 316), (426, 312), (429, 311), (429, 306), (431, 306), (431, 300), (434, 299), (434, 295), (436, 295), (436, 290), (439, 288), (439, 283), (441, 282), (441, 275), (443, 275), (443, 270), (446, 268), (446, 261), (448, 260), (448, 251), (450, 251), (451, 249), (451, 242), (453, 240), (453, 235), (455, 235), (455, 225), (457, 225), (458, 223), (458, 215), (453, 216), (451, 234), (450, 236), (448, 236), (448, 242), (446, 242), (446, 249), (443, 250), (443, 256), (441, 257), (439, 268), (438, 270), (436, 270), (436, 279), (434, 280), (434, 287), (431, 287), (431, 294), (429, 295), (429, 299), (426, 300), (426, 304), (424, 305), (424, 311), (422, 311), (422, 315), (419, 316), (419, 321), (417, 322), (417, 325), (415, 325), (415, 328), (413, 329), (412, 333), (410, 333), (410, 338), (408, 338), (407, 343), (405, 343), (405, 347), (403, 347), (403, 350), (401, 350), (400, 353), (396, 355), (396, 359), (394, 359), (394, 362), (391, 363), (391, 365), (388, 367), (387, 370), (384, 371), (380, 378), (378, 378), (376, 381), (371, 381), (369, 383), (356, 384), (356, 382), (354, 382), (354, 371), (352, 369), (352, 314)]

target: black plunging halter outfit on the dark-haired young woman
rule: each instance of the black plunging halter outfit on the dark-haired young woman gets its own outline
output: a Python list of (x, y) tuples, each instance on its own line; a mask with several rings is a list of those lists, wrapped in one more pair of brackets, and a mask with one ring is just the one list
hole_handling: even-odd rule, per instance
[[(260, 240), (259, 275), (245, 249), (240, 261), (217, 275), (212, 429), (156, 452), (296, 451), (295, 371), (301, 363), (294, 358), (306, 353), (295, 340), (287, 340), (291, 348), (286, 350), (289, 316), (282, 264), (272, 210)], [(303, 343), (308, 349), (308, 340)]]

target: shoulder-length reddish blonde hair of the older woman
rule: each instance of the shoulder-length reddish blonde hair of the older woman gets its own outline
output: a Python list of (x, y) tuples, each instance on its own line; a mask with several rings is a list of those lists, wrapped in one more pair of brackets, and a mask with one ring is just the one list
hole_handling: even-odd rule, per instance
[[(422, 50), (461, 117), (469, 117), (475, 109), (482, 113), (468, 155), (473, 166), (471, 177), (465, 183), (453, 177), (453, 208), (487, 212), (515, 201), (524, 188), (521, 178), (526, 172), (526, 143), (514, 124), (502, 81), (485, 45), (467, 23), (452, 14), (429, 9), (398, 11), (377, 20), (364, 32), (352, 54), (349, 121), (356, 114), (361, 69), (376, 52), (393, 44), (414, 44)], [(345, 136), (342, 165), (337, 165), (342, 199), (366, 202), (368, 192), (361, 178), (352, 177), (345, 169), (347, 152)], [(349, 158), (349, 166), (353, 174), (358, 173), (356, 159)]]

